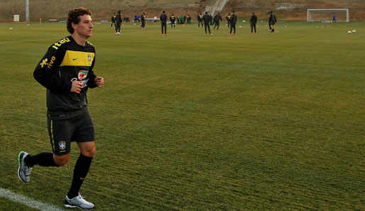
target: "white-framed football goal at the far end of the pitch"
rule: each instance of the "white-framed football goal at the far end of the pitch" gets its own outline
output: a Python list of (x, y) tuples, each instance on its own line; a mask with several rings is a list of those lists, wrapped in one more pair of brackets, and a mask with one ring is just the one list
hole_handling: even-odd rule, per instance
[(349, 9), (307, 9), (307, 22), (332, 21), (333, 14), (336, 21), (349, 22)]

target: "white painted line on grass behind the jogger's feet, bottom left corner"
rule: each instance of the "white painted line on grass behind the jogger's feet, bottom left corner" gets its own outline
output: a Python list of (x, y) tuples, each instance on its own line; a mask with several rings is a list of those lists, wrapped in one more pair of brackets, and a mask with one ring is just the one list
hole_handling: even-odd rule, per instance
[(4, 188), (0, 188), (0, 198), (7, 198), (8, 200), (11, 200), (13, 202), (17, 202), (19, 204), (23, 204), (27, 207), (32, 207), (41, 211), (66, 211), (60, 207), (48, 205), (46, 203), (33, 200), (32, 198), (28, 198), (18, 193), (13, 193), (10, 190), (6, 190)]

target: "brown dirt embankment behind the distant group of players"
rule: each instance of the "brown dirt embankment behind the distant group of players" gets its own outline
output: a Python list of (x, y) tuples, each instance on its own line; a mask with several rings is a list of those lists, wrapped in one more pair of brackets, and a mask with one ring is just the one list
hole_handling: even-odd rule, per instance
[[(14, 2), (15, 3), (14, 3)], [(39, 1), (39, 2), (38, 2)], [(49, 18), (65, 20), (67, 11), (75, 7), (75, 2), (48, 0), (50, 4), (57, 6), (49, 7), (40, 4), (40, 0), (31, 1), (31, 21), (39, 21)], [(79, 6), (81, 1), (78, 1)], [(190, 15), (196, 20), (199, 12), (205, 11), (207, 6), (212, 6), (215, 0), (90, 0), (80, 5), (92, 11), (94, 21), (110, 20), (112, 14), (121, 10), (122, 16), (134, 17), (146, 12), (147, 18), (159, 17), (165, 10), (168, 16)], [(279, 20), (307, 20), (308, 8), (347, 8), (349, 9), (350, 21), (365, 21), (364, 0), (230, 0), (221, 12), (223, 16), (235, 11), (239, 18), (249, 18), (254, 11), (259, 19), (266, 19), (268, 11), (274, 11)], [(25, 21), (25, 5), (20, 0), (2, 0), (0, 2), (0, 21), (13, 21), (13, 14), (19, 14), (21, 21)]]

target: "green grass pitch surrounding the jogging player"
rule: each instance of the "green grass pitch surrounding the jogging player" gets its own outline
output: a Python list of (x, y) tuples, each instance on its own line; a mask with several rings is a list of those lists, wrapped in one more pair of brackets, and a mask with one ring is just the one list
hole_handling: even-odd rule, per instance
[[(81, 193), (97, 210), (365, 210), (364, 23), (265, 24), (95, 25), (106, 84), (88, 94), (97, 153)], [(60, 23), (0, 25), (0, 188), (59, 207), (76, 144), (27, 184), (16, 158), (51, 150), (33, 69), (63, 36)]]

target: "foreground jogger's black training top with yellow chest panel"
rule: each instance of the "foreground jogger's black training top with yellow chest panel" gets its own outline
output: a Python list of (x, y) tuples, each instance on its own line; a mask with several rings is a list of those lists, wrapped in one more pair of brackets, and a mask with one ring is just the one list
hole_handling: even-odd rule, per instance
[[(87, 89), (97, 85), (92, 71), (95, 48), (88, 41), (78, 45), (72, 36), (62, 38), (48, 48), (33, 72), (34, 78), (47, 88), (49, 114), (74, 112), (87, 106)], [(72, 81), (82, 81), (80, 94), (70, 92)]]

